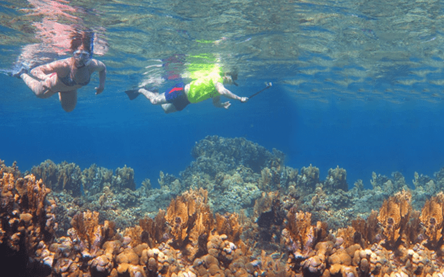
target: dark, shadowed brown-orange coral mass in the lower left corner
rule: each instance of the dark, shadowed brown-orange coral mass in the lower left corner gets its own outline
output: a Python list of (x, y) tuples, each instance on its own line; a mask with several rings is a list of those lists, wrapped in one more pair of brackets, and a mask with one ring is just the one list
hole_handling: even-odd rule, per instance
[(15, 166), (8, 168), (0, 160), (0, 265), (19, 265), (15, 276), (51, 272), (51, 258), (38, 254), (57, 228), (56, 204), (46, 199), (49, 191), (41, 179), (22, 178)]

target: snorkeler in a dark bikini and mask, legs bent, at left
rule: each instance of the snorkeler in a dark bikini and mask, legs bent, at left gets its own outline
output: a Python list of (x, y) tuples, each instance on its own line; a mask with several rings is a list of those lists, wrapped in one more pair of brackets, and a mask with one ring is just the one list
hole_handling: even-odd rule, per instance
[(92, 59), (94, 33), (75, 33), (71, 39), (73, 57), (37, 66), (28, 74), (28, 68), (22, 64), (17, 73), (38, 98), (49, 98), (58, 93), (62, 108), (73, 111), (77, 104), (77, 89), (89, 83), (94, 71), (99, 71), (99, 87), (96, 94), (105, 89), (106, 66), (99, 60)]

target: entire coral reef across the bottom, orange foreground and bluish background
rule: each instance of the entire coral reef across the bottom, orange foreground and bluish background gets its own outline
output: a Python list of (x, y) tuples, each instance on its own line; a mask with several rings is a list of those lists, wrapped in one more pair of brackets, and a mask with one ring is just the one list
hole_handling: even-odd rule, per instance
[[(444, 168), (373, 173), (283, 165), (246, 139), (209, 136), (160, 189), (134, 170), (0, 161), (0, 265), (15, 276), (437, 277), (444, 274)], [(51, 188), (51, 190), (49, 189)]]

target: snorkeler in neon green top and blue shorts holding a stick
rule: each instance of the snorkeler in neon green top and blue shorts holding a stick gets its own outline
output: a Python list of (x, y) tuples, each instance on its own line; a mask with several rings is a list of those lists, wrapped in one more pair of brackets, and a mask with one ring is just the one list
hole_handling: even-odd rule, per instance
[(165, 93), (155, 93), (144, 88), (125, 91), (130, 100), (135, 99), (140, 94), (143, 94), (153, 105), (162, 105), (165, 114), (170, 114), (175, 111), (182, 111), (190, 103), (202, 102), (212, 98), (215, 107), (228, 109), (231, 105), (230, 101), (221, 102), (221, 96), (232, 100), (239, 100), (247, 102), (248, 97), (239, 97), (228, 89), (225, 89), (224, 84), (234, 84), (237, 80), (237, 74), (222, 73), (219, 66), (213, 66), (212, 70), (207, 71), (205, 75), (198, 76), (189, 84), (184, 86), (183, 82), (176, 84)]

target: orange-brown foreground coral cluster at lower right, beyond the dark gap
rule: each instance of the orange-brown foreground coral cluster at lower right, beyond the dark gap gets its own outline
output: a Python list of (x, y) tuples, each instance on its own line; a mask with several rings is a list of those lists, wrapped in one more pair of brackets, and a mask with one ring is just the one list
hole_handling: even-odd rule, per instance
[(436, 234), (442, 229), (435, 220), (443, 215), (443, 193), (427, 202), (420, 220), (411, 218), (410, 197), (397, 193), (367, 221), (332, 235), (325, 224), (312, 225), (309, 213), (290, 211), (282, 242), (291, 270), (296, 276), (441, 276), (443, 242)]

